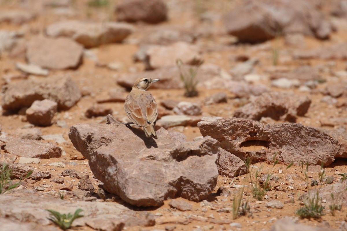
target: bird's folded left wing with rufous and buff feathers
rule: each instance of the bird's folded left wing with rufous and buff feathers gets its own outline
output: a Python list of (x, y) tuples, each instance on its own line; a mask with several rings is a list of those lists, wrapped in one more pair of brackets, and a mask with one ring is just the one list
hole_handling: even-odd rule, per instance
[(137, 103), (137, 100), (128, 95), (125, 103), (124, 103), (125, 113), (129, 117), (129, 119), (138, 126), (145, 125), (145, 118), (143, 117), (142, 109)]

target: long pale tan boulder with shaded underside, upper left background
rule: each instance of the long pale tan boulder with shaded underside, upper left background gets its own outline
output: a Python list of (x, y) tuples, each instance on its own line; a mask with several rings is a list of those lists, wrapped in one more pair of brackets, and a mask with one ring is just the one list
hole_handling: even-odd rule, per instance
[(65, 36), (74, 39), (86, 48), (107, 43), (118, 43), (128, 37), (134, 27), (126, 23), (87, 23), (77, 20), (59, 21), (46, 28), (51, 37)]

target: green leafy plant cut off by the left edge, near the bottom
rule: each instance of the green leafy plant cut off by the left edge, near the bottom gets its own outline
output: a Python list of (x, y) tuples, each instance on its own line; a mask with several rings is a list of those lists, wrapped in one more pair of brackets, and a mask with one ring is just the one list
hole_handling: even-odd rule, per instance
[(22, 176), (19, 178), (18, 183), (13, 184), (11, 180), (11, 177), (13, 176), (12, 171), (13, 169), (9, 168), (9, 165), (7, 163), (2, 163), (0, 172), (0, 194), (6, 193), (9, 190), (18, 187), (22, 179), (28, 178), (33, 173), (33, 170), (29, 171), (24, 177)]

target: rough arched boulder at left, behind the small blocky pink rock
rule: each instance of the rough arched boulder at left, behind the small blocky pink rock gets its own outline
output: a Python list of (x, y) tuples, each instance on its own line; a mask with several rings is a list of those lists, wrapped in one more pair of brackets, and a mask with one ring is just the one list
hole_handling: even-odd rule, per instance
[(2, 97), (2, 108), (19, 110), (30, 107), (35, 100), (50, 99), (58, 110), (69, 109), (81, 98), (81, 92), (69, 77), (51, 77), (46, 80), (23, 80), (8, 85)]

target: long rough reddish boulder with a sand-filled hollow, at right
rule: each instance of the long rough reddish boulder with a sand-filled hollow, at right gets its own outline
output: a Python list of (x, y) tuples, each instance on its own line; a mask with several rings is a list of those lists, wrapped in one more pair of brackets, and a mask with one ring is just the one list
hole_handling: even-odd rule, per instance
[(297, 123), (266, 124), (249, 119), (204, 117), (198, 123), (203, 136), (211, 136), (220, 147), (242, 160), (280, 163), (308, 161), (330, 165), (335, 157), (347, 157), (347, 137), (333, 131)]

